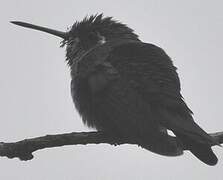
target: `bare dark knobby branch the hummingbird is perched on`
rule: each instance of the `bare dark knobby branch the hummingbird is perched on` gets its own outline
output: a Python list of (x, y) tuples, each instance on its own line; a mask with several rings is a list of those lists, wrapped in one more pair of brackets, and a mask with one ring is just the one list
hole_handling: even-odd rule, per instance
[[(223, 143), (223, 132), (217, 132), (210, 135), (216, 138), (220, 144)], [(176, 146), (179, 146), (176, 137), (171, 137), (169, 140), (172, 143), (175, 143)], [(138, 144), (137, 142), (129, 139), (117, 139), (110, 137), (103, 132), (73, 132), (67, 134), (46, 135), (13, 143), (1, 142), (0, 156), (6, 156), (8, 158), (18, 157), (20, 160), (31, 160), (33, 158), (32, 153), (34, 151), (44, 148), (100, 143), (107, 143), (111, 145)], [(180, 148), (187, 150), (184, 147)]]

